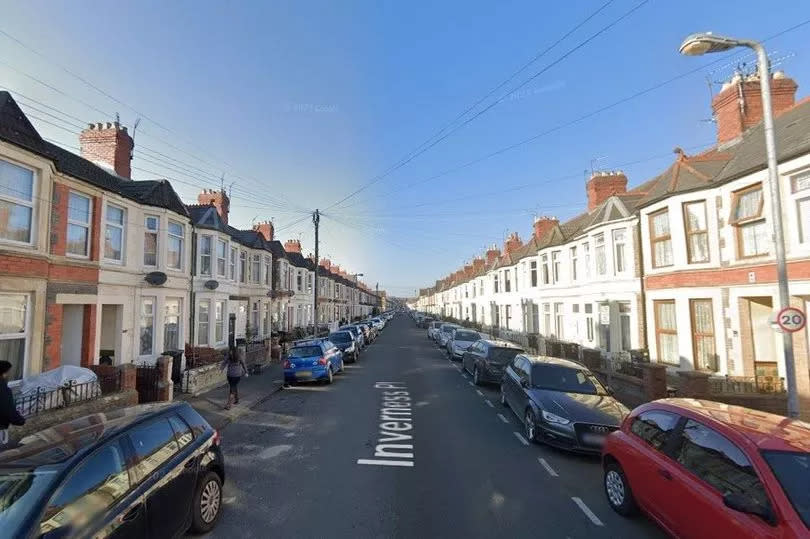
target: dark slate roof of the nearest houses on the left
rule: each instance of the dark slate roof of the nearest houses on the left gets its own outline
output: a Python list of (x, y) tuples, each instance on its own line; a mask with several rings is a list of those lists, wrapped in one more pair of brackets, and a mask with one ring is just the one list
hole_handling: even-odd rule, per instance
[(167, 180), (131, 180), (44, 140), (17, 102), (0, 91), (0, 140), (53, 161), (56, 170), (145, 206), (165, 208), (188, 216), (186, 206)]

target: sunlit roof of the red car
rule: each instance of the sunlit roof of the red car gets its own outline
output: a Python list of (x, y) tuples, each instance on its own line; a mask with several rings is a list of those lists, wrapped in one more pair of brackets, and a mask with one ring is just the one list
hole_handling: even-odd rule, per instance
[(691, 412), (739, 433), (759, 449), (810, 452), (810, 423), (799, 419), (703, 399), (659, 399), (643, 407)]

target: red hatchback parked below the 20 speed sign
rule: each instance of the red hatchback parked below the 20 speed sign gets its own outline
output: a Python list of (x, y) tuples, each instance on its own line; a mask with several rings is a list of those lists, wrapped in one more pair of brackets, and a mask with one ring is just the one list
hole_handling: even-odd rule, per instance
[(810, 424), (695, 399), (639, 406), (607, 437), (605, 495), (676, 537), (810, 537)]

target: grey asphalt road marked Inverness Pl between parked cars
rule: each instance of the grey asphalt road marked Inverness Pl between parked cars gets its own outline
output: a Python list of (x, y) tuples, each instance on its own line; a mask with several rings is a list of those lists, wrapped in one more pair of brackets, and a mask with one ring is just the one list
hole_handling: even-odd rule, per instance
[[(410, 398), (398, 400), (411, 421), (386, 428), (410, 424), (394, 437), (412, 439), (389, 442), (413, 449), (375, 458), (390, 436), (386, 394)], [(225, 509), (211, 536), (663, 537), (610, 509), (598, 458), (525, 445), (521, 431), (496, 386), (474, 387), (396, 317), (333, 385), (285, 389), (227, 427)]]

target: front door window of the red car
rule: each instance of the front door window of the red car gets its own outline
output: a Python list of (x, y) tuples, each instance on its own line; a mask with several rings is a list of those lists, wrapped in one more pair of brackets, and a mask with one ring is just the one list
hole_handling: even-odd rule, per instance
[(676, 459), (721, 494), (745, 494), (768, 505), (765, 488), (745, 454), (706, 425), (692, 419), (686, 422)]

